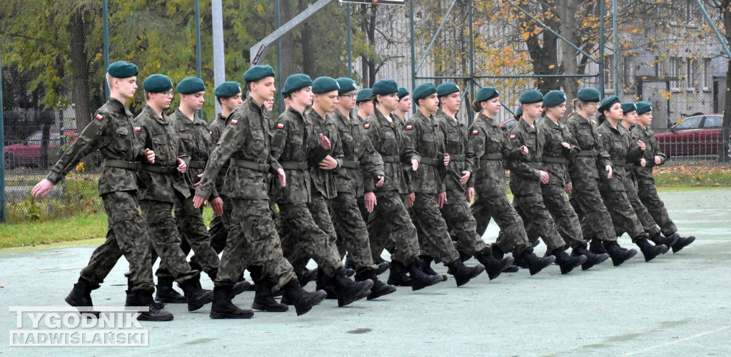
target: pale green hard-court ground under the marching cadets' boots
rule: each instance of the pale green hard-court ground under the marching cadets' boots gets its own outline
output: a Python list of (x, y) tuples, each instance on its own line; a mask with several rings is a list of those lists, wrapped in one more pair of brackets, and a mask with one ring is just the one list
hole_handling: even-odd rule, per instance
[[(147, 347), (10, 347), (10, 307), (62, 307), (100, 240), (0, 251), (0, 354), (8, 356), (730, 356), (731, 189), (661, 192), (670, 215), (694, 244), (645, 263), (610, 261), (561, 275), (551, 266), (533, 277), (521, 269), (456, 288), (431, 288), (337, 307), (326, 300), (306, 315), (256, 312), (251, 320), (211, 320), (210, 305), (187, 312), (168, 304), (175, 320), (141, 323)], [(497, 228), (491, 224), (486, 241)], [(620, 239), (631, 246), (627, 236)], [(542, 254), (545, 245), (537, 248)], [(387, 258), (387, 257), (385, 257)], [(468, 265), (476, 263), (469, 260)], [(314, 265), (314, 264), (313, 264)], [(439, 265), (436, 271), (446, 274)], [(126, 263), (118, 263), (95, 306), (124, 305)], [(381, 276), (387, 278), (387, 273)], [(204, 288), (213, 283), (204, 278)], [(306, 287), (314, 290), (314, 283)], [(248, 308), (254, 293), (237, 296)]]

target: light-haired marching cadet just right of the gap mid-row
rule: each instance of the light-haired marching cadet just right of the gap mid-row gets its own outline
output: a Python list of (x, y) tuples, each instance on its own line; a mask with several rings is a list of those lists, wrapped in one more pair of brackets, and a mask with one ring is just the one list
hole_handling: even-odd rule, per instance
[(492, 244), (493, 256), (503, 259), (506, 252), (512, 252), (515, 259), (527, 263), (531, 275), (534, 275), (553, 264), (556, 257), (540, 258), (534, 254), (523, 219), (507, 199), (504, 160), (525, 156), (528, 148), (513, 149), (495, 123), (493, 118), (501, 106), (499, 96), (494, 87), (485, 87), (477, 91), (472, 103), (472, 109), (478, 114), (467, 129), (466, 159), (471, 160), (474, 168), (474, 174), (467, 181), (467, 195), (469, 200), (474, 198), (471, 211), (480, 237), (485, 234), (491, 218), (500, 227), (498, 239)]

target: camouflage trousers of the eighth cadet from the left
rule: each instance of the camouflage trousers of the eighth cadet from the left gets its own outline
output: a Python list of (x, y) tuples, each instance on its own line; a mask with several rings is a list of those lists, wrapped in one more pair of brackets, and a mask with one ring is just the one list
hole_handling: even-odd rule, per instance
[[(344, 247), (353, 261), (356, 271), (376, 269), (373, 263), (371, 243), (368, 241), (368, 229), (363, 216), (360, 215), (357, 200), (352, 193), (338, 192), (338, 196), (330, 200), (333, 223), (337, 233), (338, 247)], [(341, 258), (344, 258), (341, 251)]]

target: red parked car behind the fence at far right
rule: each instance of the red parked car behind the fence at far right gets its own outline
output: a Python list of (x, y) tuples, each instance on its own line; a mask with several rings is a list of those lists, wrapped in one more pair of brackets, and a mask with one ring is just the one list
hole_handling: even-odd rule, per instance
[(667, 132), (655, 133), (660, 151), (670, 157), (719, 154), (719, 150), (724, 150), (721, 149), (723, 119), (723, 114), (705, 114), (678, 121)]

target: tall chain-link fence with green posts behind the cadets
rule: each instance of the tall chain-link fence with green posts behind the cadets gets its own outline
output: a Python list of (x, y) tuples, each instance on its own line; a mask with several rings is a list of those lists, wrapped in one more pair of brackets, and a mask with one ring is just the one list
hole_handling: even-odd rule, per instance
[[(723, 33), (721, 10), (713, 6), (718, 2), (703, 1)], [(276, 29), (278, 3), (284, 24), (310, 1), (223, 1), (226, 80), (242, 80), (251, 46)], [(464, 89), (458, 117), (465, 123), (474, 115), (471, 94), (481, 86), (496, 86), (506, 108), (515, 110), (526, 89), (564, 90), (570, 107), (577, 89), (599, 88), (603, 81), (605, 95), (653, 103), (652, 127), (673, 157), (669, 165), (719, 165), (719, 152), (729, 150), (723, 140), (728, 132), (721, 133), (728, 59), (694, 0), (621, 1), (617, 59), (611, 0), (604, 3), (603, 18), (597, 0), (405, 3), (331, 1), (281, 37), (279, 50), (270, 46), (262, 63), (281, 72), (279, 87), (297, 72), (346, 76), (349, 53), (352, 77), (363, 88), (381, 78), (409, 91), (414, 84), (454, 81)], [(154, 73), (173, 83), (197, 75), (195, 4), (109, 0), (109, 60), (137, 64), (140, 86)], [(211, 1), (200, 1), (200, 74), (209, 89), (202, 113), (208, 121), (215, 112), (211, 14)], [(50, 199), (31, 200), (29, 189), (105, 102), (103, 18), (102, 5), (92, 0), (4, 0), (0, 7), (9, 222), (101, 209), (99, 154), (90, 154)], [(140, 90), (129, 108), (139, 113), (143, 105)], [(510, 125), (511, 117), (501, 110), (496, 120)]]

